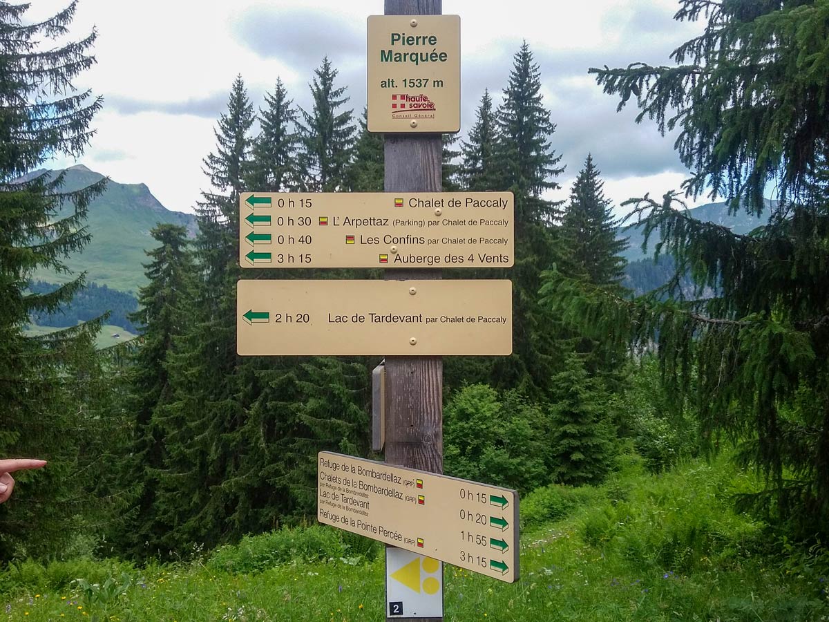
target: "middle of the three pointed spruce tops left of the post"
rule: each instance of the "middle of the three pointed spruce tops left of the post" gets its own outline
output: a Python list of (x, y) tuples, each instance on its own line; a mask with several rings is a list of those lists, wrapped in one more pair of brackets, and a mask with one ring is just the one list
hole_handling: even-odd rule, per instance
[(266, 93), (264, 100), (267, 108), (259, 109), (259, 135), (253, 143), (246, 189), (286, 192), (298, 184), (299, 139), (294, 131), (297, 112), (282, 80), (276, 80), (274, 93)]

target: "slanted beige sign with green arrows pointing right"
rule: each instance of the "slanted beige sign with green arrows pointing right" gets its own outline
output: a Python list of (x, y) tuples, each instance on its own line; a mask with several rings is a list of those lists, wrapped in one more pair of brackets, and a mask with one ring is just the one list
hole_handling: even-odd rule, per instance
[(518, 580), (518, 493), (322, 451), (319, 522), (500, 581)]

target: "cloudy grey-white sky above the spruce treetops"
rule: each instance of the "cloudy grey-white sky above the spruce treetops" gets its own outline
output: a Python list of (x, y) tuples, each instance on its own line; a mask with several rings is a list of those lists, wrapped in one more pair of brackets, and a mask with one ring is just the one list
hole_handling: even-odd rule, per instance
[[(27, 17), (67, 2), (37, 0)], [(673, 138), (647, 121), (635, 124), (635, 109), (617, 113), (617, 100), (587, 73), (590, 66), (668, 64), (670, 52), (700, 28), (673, 21), (676, 8), (676, 0), (444, 0), (444, 14), (461, 17), (462, 136), (484, 89), (500, 102), (512, 56), (526, 40), (557, 125), (552, 143), (567, 167), (553, 198), (569, 196), (588, 153), (617, 206), (679, 189), (687, 172)], [(357, 116), (366, 100), (366, 17), (382, 12), (381, 0), (80, 0), (72, 32), (80, 38), (98, 29), (98, 62), (76, 86), (104, 96), (80, 162), (115, 182), (146, 183), (169, 209), (193, 211), (208, 187), (201, 162), (215, 148), (213, 128), (235, 76), (244, 78), (255, 107), (281, 78), (308, 109), (308, 83), (328, 56)]]

